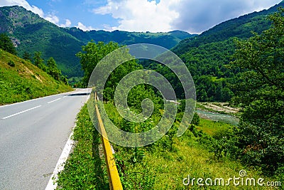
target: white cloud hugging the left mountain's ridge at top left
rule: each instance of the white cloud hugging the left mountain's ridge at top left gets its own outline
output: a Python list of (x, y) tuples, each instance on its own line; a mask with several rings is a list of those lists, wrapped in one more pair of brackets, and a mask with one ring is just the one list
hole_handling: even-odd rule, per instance
[[(56, 0), (58, 1), (58, 0)], [(71, 21), (69, 19), (65, 20), (65, 23), (60, 24), (60, 19), (55, 14), (44, 14), (43, 10), (38, 8), (37, 6), (31, 6), (28, 4), (26, 0), (1, 0), (0, 6), (23, 6), (23, 8), (27, 9), (28, 11), (32, 11), (35, 14), (38, 14), (41, 18), (50, 21), (51, 23), (55, 23), (61, 27), (69, 27), (71, 26)]]

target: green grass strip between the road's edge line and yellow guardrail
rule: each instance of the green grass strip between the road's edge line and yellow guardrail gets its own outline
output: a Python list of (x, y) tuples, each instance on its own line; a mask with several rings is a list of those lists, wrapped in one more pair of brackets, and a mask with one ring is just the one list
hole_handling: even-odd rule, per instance
[(87, 105), (77, 115), (72, 137), (76, 144), (65, 169), (58, 175), (58, 189), (109, 189), (100, 136), (94, 129)]

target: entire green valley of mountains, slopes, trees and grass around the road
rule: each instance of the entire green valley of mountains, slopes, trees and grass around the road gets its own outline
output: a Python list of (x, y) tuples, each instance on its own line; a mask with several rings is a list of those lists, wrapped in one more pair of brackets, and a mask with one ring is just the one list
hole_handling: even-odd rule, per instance
[[(77, 115), (73, 149), (55, 179), (57, 189), (109, 189), (95, 105), (109, 139), (127, 136), (124, 132), (152, 135), (129, 135), (125, 146), (111, 142), (124, 189), (283, 188), (284, 1), (199, 35), (61, 28), (23, 7), (4, 6), (0, 33), (5, 38), (0, 45), (11, 52), (0, 47), (0, 105), (70, 91), (68, 80), (92, 88), (70, 95), (90, 98)], [(6, 46), (9, 39), (14, 46)], [(163, 46), (177, 56), (151, 52), (167, 64), (138, 59), (122, 48), (133, 43)], [(111, 52), (115, 56), (107, 56)], [(189, 75), (193, 81), (183, 85)], [(176, 99), (153, 80), (173, 88), (164, 91)], [(182, 127), (185, 132), (178, 136)], [(160, 138), (131, 144), (146, 137)], [(234, 184), (235, 179), (243, 181)], [(263, 184), (252, 185), (253, 179)], [(248, 181), (251, 185), (244, 185)], [(268, 187), (269, 181), (275, 186)]]

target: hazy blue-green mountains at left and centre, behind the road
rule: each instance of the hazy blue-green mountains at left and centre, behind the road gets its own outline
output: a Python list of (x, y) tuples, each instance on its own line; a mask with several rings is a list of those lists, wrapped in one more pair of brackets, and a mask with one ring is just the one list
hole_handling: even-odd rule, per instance
[(20, 6), (0, 7), (0, 33), (4, 32), (9, 33), (17, 46), (19, 56), (22, 56), (25, 51), (31, 54), (40, 51), (45, 60), (53, 57), (62, 73), (68, 77), (82, 75), (80, 60), (75, 54), (91, 40), (105, 43), (115, 41), (121, 45), (153, 43), (165, 48), (173, 48), (181, 40), (194, 36), (184, 31), (138, 33), (60, 28)]

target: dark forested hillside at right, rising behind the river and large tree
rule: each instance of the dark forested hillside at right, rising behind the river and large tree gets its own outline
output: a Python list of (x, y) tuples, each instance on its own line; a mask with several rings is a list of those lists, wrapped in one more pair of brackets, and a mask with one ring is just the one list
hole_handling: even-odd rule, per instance
[(234, 96), (236, 92), (232, 87), (238, 83), (241, 71), (228, 67), (234, 60), (234, 38), (247, 39), (253, 36), (251, 31), (261, 33), (268, 29), (271, 25), (268, 15), (278, 11), (280, 6), (284, 7), (284, 1), (271, 9), (225, 21), (199, 36), (181, 41), (172, 49), (185, 62), (195, 80), (197, 100), (229, 101)]

